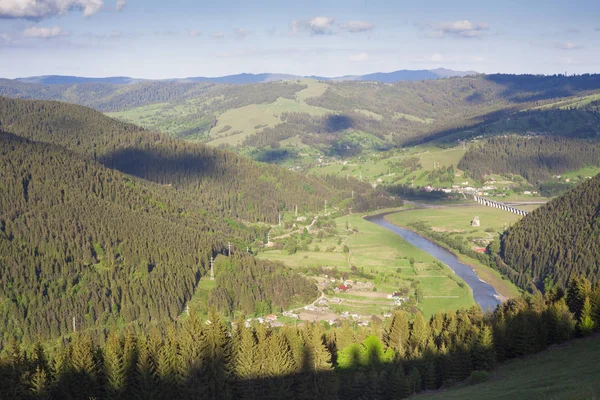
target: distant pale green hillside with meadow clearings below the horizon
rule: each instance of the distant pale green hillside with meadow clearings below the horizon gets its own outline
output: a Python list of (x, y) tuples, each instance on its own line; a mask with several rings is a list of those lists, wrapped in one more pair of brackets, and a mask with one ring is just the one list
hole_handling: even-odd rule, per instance
[[(459, 133), (464, 136), (465, 127), (479, 129), (479, 124), (489, 126), (490, 132), (502, 130), (506, 127), (501, 122), (517, 111), (544, 114), (546, 106), (593, 106), (599, 89), (597, 75), (477, 75), (396, 84), (299, 80), (247, 85), (169, 81), (41, 85), (0, 81), (0, 95), (78, 103), (215, 146), (252, 153), (265, 146), (299, 151), (303, 145), (342, 156)], [(522, 117), (516, 119), (527, 126), (530, 115)], [(340, 153), (339, 149), (353, 150)]]

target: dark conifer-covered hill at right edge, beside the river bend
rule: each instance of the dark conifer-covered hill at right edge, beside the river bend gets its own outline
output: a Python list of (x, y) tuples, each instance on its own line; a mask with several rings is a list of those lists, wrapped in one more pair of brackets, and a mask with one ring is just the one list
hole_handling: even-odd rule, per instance
[(502, 238), (501, 254), (519, 286), (600, 282), (600, 175), (531, 212)]

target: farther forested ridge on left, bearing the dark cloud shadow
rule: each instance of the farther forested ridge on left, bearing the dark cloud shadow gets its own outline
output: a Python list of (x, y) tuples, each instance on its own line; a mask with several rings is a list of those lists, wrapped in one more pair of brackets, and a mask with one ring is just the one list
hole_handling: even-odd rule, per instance
[[(145, 131), (92, 109), (52, 101), (0, 97), (0, 128), (52, 143), (89, 159), (196, 197), (197, 206), (252, 222), (275, 222), (278, 213), (322, 209), (350, 198), (356, 209), (377, 195), (356, 180), (327, 181), (259, 164), (224, 150)], [(379, 200), (381, 201), (381, 199)], [(349, 204), (349, 206), (352, 206)]]

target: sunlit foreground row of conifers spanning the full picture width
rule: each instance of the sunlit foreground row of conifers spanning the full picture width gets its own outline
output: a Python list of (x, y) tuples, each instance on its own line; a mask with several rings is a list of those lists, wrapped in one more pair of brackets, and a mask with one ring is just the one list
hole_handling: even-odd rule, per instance
[(54, 349), (13, 342), (0, 357), (3, 399), (401, 399), (468, 379), (478, 383), (505, 360), (533, 354), (600, 326), (600, 288), (576, 280), (478, 308), (403, 311), (381, 326), (350, 323), (270, 329), (217, 314), (148, 331), (128, 327), (103, 343), (74, 334)]

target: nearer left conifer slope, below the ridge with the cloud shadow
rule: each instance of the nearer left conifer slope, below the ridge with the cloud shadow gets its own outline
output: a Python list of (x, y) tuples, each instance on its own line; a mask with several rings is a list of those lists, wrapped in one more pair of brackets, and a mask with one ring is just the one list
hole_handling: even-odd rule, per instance
[[(186, 192), (0, 133), (0, 346), (64, 336), (73, 325), (176, 319), (212, 256), (228, 241), (245, 248), (262, 236)], [(219, 311), (255, 301), (284, 307), (315, 293), (282, 266), (241, 255), (228, 263), (245, 277), (236, 290), (246, 296), (214, 303)], [(272, 286), (256, 288), (263, 279)]]

